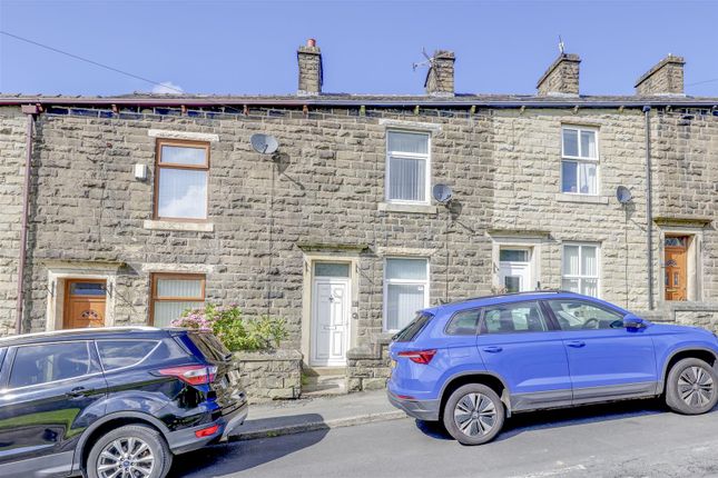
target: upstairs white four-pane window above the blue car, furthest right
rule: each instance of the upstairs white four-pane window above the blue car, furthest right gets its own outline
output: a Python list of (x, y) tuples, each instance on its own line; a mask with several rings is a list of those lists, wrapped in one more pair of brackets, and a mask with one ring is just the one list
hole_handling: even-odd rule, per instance
[(598, 130), (563, 127), (561, 192), (598, 195)]

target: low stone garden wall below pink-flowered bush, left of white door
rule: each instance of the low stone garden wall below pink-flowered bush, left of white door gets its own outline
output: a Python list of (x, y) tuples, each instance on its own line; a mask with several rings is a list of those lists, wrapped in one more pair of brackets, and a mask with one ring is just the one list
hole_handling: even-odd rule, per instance
[(242, 385), (250, 404), (299, 398), (302, 392), (302, 352), (236, 352)]

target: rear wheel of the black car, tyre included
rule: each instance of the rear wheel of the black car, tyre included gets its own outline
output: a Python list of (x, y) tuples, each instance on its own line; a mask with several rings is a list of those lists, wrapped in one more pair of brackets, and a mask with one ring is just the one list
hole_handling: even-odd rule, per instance
[(127, 425), (102, 435), (87, 458), (89, 478), (164, 478), (173, 454), (154, 428)]

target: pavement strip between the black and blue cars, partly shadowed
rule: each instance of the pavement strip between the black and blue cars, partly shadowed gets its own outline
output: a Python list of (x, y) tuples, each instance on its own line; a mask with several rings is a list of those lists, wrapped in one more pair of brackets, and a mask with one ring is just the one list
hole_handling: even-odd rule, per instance
[(406, 414), (392, 407), (385, 390), (249, 406), (249, 416), (232, 441), (396, 420)]

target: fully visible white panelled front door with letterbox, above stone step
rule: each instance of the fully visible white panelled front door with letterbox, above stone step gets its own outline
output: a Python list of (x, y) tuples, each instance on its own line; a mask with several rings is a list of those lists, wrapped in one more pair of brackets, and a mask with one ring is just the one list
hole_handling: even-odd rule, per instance
[(348, 278), (318, 277), (314, 279), (309, 365), (346, 365), (350, 301)]

